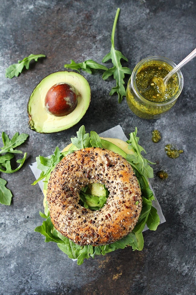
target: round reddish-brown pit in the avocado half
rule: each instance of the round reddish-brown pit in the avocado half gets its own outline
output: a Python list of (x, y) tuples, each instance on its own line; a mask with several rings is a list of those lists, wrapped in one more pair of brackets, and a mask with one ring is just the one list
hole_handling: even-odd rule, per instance
[(66, 116), (77, 106), (77, 94), (74, 87), (68, 83), (57, 83), (46, 93), (46, 111), (54, 116)]

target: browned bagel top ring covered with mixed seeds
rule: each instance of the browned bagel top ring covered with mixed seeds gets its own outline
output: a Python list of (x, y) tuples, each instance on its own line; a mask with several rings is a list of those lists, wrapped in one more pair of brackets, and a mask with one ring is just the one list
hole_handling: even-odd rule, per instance
[[(97, 211), (79, 205), (81, 188), (93, 182), (109, 190), (106, 204)], [(131, 165), (101, 148), (65, 156), (51, 173), (46, 198), (54, 227), (79, 245), (99, 246), (123, 238), (135, 227), (142, 207)]]

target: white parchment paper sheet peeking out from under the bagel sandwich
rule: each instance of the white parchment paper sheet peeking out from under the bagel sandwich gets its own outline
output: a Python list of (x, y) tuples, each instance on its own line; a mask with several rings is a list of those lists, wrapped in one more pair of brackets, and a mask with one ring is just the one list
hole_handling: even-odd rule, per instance
[[(128, 140), (127, 137), (125, 136), (125, 133), (122, 130), (122, 127), (120, 125), (117, 125), (117, 126), (111, 128), (111, 129), (108, 129), (108, 130), (100, 133), (99, 136), (102, 136), (102, 137), (110, 137), (110, 138), (119, 138), (119, 139), (122, 139), (124, 141), (127, 141)], [(30, 165), (30, 169), (32, 170), (35, 178), (38, 179), (40, 177), (41, 171), (39, 169), (37, 169), (37, 163), (34, 162), (33, 164), (31, 164)], [(41, 188), (41, 190), (43, 192), (43, 181), (42, 180), (39, 181), (38, 184), (39, 184), (39, 186), (40, 186), (40, 188)], [(150, 188), (152, 189), (151, 185), (150, 185)], [(153, 189), (152, 189), (152, 191), (153, 191)], [(153, 194), (154, 194), (154, 192), (153, 192)], [(157, 213), (158, 213), (159, 218), (160, 218), (160, 223), (163, 223), (163, 222), (166, 221), (165, 220), (165, 217), (163, 215), (163, 212), (161, 210), (161, 207), (159, 205), (159, 202), (156, 199), (155, 194), (154, 194), (154, 197), (155, 197), (155, 200), (152, 201), (153, 207), (156, 208), (156, 210), (157, 210)], [(144, 231), (146, 231), (147, 229), (148, 228), (146, 226), (144, 228)]]

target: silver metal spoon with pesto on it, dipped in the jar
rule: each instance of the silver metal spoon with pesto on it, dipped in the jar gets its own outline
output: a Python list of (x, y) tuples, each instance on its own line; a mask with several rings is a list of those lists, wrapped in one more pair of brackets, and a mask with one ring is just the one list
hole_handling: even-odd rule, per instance
[(175, 66), (164, 78), (154, 77), (150, 83), (150, 85), (142, 92), (148, 90), (151, 86), (158, 85), (158, 92), (163, 93), (166, 90), (167, 81), (175, 74), (181, 67), (187, 64), (191, 59), (196, 56), (196, 48), (187, 55), (177, 66)]

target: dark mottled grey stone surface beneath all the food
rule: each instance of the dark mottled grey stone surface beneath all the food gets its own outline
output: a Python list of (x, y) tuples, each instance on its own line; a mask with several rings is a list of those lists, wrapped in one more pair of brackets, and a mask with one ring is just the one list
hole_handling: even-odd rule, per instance
[[(195, 2), (166, 1), (0, 1), (0, 131), (9, 136), (28, 133), (28, 152), (21, 170), (2, 175), (13, 192), (11, 206), (0, 206), (0, 294), (195, 294), (195, 61), (182, 68), (184, 88), (179, 100), (158, 120), (142, 120), (109, 96), (114, 80), (101, 72), (82, 72), (90, 83), (92, 101), (83, 119), (69, 130), (42, 135), (28, 129), (27, 102), (33, 88), (51, 72), (64, 70), (70, 59), (101, 62), (110, 50), (112, 24), (121, 8), (115, 48), (131, 69), (144, 57), (161, 55), (180, 62), (195, 48)], [(5, 78), (5, 69), (30, 53), (47, 58), (32, 62), (19, 77)], [(110, 64), (108, 64), (110, 65)], [(128, 79), (128, 77), (127, 77)], [(126, 80), (127, 81), (127, 80)], [(147, 158), (157, 164), (151, 184), (166, 223), (144, 233), (144, 250), (118, 250), (81, 266), (53, 243), (34, 232), (42, 220), (43, 195), (29, 165), (36, 156), (62, 149), (84, 124), (97, 133), (120, 124), (125, 135), (138, 127)], [(153, 129), (162, 139), (151, 140)], [(172, 143), (184, 153), (170, 159), (164, 146)], [(0, 143), (2, 146), (2, 141)], [(156, 176), (164, 169), (169, 178)]]

